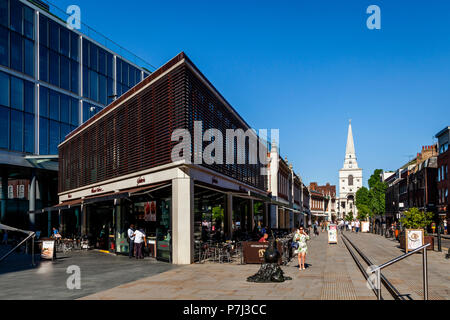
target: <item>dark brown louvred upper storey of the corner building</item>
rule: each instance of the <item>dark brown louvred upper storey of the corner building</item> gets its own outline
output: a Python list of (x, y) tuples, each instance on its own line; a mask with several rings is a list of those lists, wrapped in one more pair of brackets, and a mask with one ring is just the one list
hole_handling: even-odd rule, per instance
[[(224, 154), (226, 129), (249, 129), (180, 53), (67, 136), (59, 146), (59, 192), (171, 163), (172, 149), (178, 144), (171, 141), (172, 132), (188, 129), (194, 150), (194, 121), (202, 121), (203, 133), (209, 128), (222, 132)], [(203, 147), (206, 145), (208, 142)], [(248, 143), (245, 149), (248, 151)], [(202, 166), (265, 190), (259, 161)]]

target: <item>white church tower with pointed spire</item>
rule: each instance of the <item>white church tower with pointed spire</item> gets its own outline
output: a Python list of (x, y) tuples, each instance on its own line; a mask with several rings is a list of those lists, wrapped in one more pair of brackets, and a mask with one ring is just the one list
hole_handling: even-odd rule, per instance
[(345, 148), (344, 166), (339, 170), (339, 215), (341, 218), (351, 212), (356, 218), (356, 191), (362, 187), (362, 169), (358, 167), (353, 141), (352, 121), (348, 125), (347, 146)]

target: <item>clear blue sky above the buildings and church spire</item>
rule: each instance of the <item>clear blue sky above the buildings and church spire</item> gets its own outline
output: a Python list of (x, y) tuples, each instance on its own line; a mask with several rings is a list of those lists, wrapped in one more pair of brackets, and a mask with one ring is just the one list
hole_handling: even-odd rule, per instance
[(450, 1), (52, 2), (154, 66), (186, 52), (305, 183), (338, 183), (350, 118), (365, 185), (450, 125)]

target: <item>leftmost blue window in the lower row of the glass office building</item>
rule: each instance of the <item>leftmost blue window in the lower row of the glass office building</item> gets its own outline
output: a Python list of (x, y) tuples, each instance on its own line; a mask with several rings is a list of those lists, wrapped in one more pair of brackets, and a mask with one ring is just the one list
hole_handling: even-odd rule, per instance
[(0, 148), (34, 153), (34, 84), (0, 72)]

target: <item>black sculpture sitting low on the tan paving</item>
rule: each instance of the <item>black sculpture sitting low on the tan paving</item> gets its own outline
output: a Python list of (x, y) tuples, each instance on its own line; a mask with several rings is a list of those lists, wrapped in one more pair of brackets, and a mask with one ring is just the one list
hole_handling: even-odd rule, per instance
[[(273, 235), (272, 235), (273, 236)], [(264, 252), (264, 263), (261, 265), (259, 271), (247, 278), (249, 282), (284, 282), (291, 280), (291, 277), (285, 277), (283, 270), (278, 265), (280, 259), (280, 252), (275, 246), (275, 239), (269, 243), (269, 247)]]

